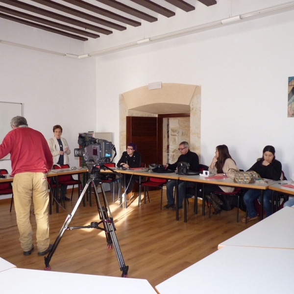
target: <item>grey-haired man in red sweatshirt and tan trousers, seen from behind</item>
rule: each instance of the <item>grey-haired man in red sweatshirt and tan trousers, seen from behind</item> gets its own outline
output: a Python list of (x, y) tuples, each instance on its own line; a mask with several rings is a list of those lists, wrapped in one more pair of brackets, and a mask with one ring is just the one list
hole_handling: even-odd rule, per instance
[(11, 130), (0, 145), (0, 158), (10, 153), (13, 179), (13, 197), (20, 242), (24, 255), (34, 249), (32, 226), (30, 223), (31, 200), (37, 223), (38, 255), (45, 255), (52, 245), (49, 244), (48, 220), (48, 182), (47, 173), (53, 165), (53, 158), (44, 136), (27, 126), (26, 119), (14, 117)]

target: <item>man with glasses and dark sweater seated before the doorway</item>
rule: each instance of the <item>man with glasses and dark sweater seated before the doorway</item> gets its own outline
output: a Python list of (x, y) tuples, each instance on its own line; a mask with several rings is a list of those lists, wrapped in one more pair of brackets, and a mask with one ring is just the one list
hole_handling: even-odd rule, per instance
[[(179, 145), (178, 150), (181, 152), (178, 160), (174, 164), (165, 164), (165, 167), (169, 170), (175, 171), (177, 169), (177, 165), (179, 162), (187, 162), (190, 165), (190, 170), (192, 172), (199, 172), (199, 158), (195, 152), (190, 151), (189, 143), (188, 142), (181, 142)], [(187, 188), (189, 185), (193, 186), (193, 183), (187, 182)], [(168, 204), (165, 205), (164, 209), (172, 209), (175, 210), (174, 199), (173, 199), (173, 188), (176, 185), (176, 180), (170, 180), (167, 183), (167, 198)], [(178, 194), (179, 194), (179, 201), (178, 201), (178, 208), (183, 208), (183, 200), (185, 196), (185, 183), (184, 181), (178, 181)]]

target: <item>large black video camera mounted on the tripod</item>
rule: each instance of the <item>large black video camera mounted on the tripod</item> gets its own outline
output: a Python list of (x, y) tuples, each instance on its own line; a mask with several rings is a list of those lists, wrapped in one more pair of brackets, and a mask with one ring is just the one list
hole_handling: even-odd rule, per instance
[(78, 136), (77, 143), (82, 148), (74, 149), (75, 157), (83, 157), (86, 162), (109, 163), (112, 157), (111, 142), (104, 139), (96, 139), (86, 133)]

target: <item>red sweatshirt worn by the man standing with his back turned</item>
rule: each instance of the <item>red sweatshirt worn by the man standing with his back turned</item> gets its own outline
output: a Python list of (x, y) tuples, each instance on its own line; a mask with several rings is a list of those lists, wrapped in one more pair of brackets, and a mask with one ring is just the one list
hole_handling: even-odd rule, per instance
[(10, 131), (0, 145), (0, 158), (10, 153), (12, 173), (48, 172), (53, 158), (44, 136), (29, 127)]

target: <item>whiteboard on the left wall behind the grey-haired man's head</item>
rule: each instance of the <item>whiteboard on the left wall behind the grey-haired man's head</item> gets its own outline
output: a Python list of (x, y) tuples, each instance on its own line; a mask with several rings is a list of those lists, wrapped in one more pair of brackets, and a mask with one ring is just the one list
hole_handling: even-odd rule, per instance
[[(22, 103), (0, 101), (0, 143), (2, 143), (6, 134), (12, 130), (11, 119), (18, 115), (22, 116)], [(3, 159), (9, 159), (9, 155)]]

